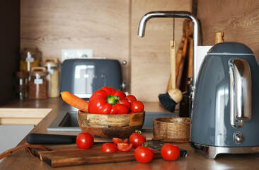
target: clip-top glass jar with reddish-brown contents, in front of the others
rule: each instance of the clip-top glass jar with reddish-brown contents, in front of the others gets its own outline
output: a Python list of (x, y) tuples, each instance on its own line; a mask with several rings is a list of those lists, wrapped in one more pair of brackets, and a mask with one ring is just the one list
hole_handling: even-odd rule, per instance
[(45, 67), (33, 67), (29, 73), (29, 98), (47, 98), (47, 71)]

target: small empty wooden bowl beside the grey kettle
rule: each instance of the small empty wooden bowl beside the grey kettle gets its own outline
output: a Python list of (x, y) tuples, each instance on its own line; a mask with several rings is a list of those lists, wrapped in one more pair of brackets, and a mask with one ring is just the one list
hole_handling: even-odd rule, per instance
[(189, 142), (190, 118), (154, 118), (153, 135), (162, 142)]

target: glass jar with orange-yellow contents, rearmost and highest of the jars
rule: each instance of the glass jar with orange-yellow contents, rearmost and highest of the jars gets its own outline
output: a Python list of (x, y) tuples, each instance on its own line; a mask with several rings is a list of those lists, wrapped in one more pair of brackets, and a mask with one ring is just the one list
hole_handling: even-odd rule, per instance
[(20, 71), (30, 72), (32, 67), (40, 66), (40, 51), (37, 49), (25, 48), (21, 51)]

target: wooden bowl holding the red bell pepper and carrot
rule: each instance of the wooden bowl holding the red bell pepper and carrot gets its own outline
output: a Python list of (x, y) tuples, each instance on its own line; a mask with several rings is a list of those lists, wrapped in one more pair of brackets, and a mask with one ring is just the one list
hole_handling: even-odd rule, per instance
[(135, 130), (142, 130), (145, 112), (103, 115), (78, 111), (77, 120), (82, 132), (89, 132), (93, 137), (127, 138)]

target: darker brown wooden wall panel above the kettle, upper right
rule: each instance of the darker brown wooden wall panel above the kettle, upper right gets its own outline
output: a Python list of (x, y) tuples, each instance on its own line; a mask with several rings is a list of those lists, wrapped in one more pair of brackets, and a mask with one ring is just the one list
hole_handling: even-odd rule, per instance
[(225, 41), (248, 45), (259, 60), (259, 1), (199, 0), (197, 17), (202, 26), (202, 45), (213, 45), (214, 33), (224, 32)]

